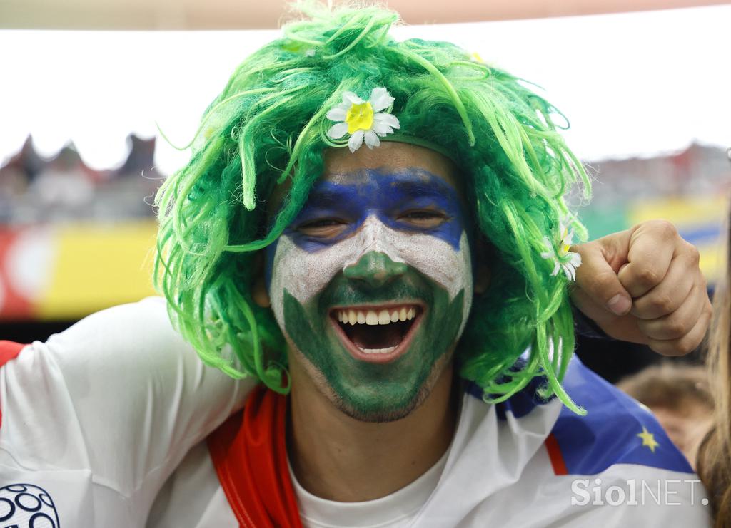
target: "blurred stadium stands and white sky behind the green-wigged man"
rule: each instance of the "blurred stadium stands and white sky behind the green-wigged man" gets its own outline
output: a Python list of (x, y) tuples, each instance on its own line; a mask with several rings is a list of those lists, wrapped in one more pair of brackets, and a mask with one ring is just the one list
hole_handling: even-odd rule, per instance
[[(460, 44), (567, 115), (595, 180), (594, 201), (577, 203), (592, 238), (672, 220), (713, 285), (731, 190), (731, 4), (385, 3), (408, 23), (398, 39)], [(189, 155), (159, 129), (188, 143), (288, 16), (281, 1), (0, 0), (0, 339), (45, 339), (154, 293), (152, 197)], [(606, 345), (583, 348), (612, 380), (654, 360)]]

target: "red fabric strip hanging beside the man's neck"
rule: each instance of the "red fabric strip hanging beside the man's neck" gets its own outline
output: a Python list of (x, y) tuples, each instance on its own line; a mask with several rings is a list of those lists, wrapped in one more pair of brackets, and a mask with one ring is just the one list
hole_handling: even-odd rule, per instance
[(255, 388), (208, 437), (219, 482), (242, 528), (302, 528), (287, 466), (287, 397)]

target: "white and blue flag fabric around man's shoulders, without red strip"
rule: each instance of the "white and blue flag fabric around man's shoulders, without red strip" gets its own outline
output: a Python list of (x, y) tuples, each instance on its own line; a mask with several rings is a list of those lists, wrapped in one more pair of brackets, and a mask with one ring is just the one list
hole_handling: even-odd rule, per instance
[[(591, 421), (566, 411), (558, 400), (536, 405), (526, 394), (489, 405), (468, 387), (450, 449), (404, 489), (378, 500), (342, 503), (314, 497), (294, 480), (303, 526), (709, 526), (700, 481), (654, 417), (594, 376), (575, 362), (566, 380), (573, 388), (586, 384), (593, 393), (574, 394), (590, 414), (594, 409)], [(607, 408), (615, 409), (613, 418)], [(637, 430), (653, 435), (655, 451), (643, 445)], [(235, 518), (203, 444), (164, 487), (148, 523), (240, 525), (246, 526)]]

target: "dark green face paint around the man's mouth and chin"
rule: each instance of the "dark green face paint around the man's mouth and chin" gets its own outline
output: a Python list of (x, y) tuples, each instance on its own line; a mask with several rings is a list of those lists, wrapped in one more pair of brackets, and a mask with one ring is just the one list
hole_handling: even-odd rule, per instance
[[(407, 273), (411, 274), (411, 273)], [(416, 275), (416, 273), (414, 273)], [(410, 283), (363, 292), (335, 279), (306, 305), (284, 290), (284, 327), (297, 349), (322, 373), (341, 411), (368, 422), (398, 419), (419, 403), (436, 362), (453, 348), (462, 325), (464, 290), (450, 302), (444, 288), (419, 276)], [(409, 349), (387, 363), (357, 360), (336, 333), (333, 306), (418, 300), (425, 311)], [(291, 361), (291, 360), (290, 360)]]

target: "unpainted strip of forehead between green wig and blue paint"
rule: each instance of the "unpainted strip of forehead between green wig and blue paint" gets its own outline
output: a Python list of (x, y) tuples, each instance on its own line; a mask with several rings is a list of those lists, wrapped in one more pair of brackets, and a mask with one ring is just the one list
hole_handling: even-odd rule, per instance
[(379, 169), (382, 172), (417, 170), (439, 176), (455, 189), (460, 190), (461, 181), (455, 164), (446, 156), (425, 147), (383, 141), (373, 150), (361, 147), (355, 152), (347, 149), (330, 148), (325, 151), (325, 169), (322, 180), (337, 183), (347, 176), (349, 181), (363, 174), (363, 169)]

